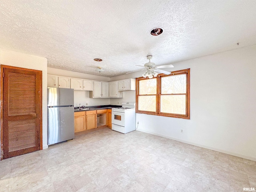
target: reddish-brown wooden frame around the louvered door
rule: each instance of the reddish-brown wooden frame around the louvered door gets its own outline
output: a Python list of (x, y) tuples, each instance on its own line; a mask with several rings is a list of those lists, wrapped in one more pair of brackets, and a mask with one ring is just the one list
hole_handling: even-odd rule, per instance
[(4, 68), (9, 68), (9, 69), (17, 69), (17, 70), (25, 70), (25, 71), (33, 71), (33, 72), (41, 72), (41, 76), (40, 76), (40, 82), (41, 82), (41, 86), (40, 86), (40, 150), (43, 149), (43, 123), (42, 123), (42, 71), (40, 70), (34, 70), (34, 69), (28, 69), (28, 68), (20, 68), (20, 67), (14, 67), (14, 66), (8, 66), (8, 65), (1, 65), (1, 69), (0, 69), (0, 140), (1, 140), (1, 150), (0, 150), (0, 160), (3, 160), (3, 101), (4, 101)]

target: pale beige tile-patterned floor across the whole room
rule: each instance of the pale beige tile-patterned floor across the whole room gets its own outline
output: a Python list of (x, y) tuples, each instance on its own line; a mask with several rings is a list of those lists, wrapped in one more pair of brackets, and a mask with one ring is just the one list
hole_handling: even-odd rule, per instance
[(0, 162), (1, 192), (242, 192), (256, 162), (108, 128)]

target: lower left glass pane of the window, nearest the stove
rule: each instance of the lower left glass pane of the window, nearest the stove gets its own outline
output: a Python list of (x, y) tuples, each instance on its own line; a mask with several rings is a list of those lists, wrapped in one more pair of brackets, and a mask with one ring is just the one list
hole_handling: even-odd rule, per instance
[(139, 96), (139, 110), (156, 112), (156, 96)]

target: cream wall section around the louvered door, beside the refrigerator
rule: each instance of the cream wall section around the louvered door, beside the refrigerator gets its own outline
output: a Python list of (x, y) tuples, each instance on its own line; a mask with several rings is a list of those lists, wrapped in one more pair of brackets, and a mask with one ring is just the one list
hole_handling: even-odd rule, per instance
[(47, 145), (47, 59), (0, 48), (0, 64), (42, 71), (43, 148)]

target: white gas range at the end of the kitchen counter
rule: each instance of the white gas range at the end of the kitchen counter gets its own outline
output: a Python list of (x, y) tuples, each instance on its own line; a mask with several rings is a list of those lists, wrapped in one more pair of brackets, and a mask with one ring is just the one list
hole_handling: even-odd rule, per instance
[(112, 130), (128, 133), (135, 128), (135, 102), (122, 102), (122, 107), (112, 108)]

